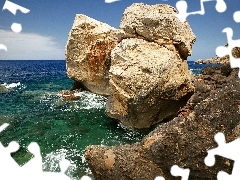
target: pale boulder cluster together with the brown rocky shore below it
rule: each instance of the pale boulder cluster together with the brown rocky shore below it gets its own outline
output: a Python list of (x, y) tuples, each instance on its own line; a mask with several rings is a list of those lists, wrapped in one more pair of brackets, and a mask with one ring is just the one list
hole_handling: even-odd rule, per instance
[[(214, 135), (226, 141), (240, 135), (240, 79), (228, 57), (220, 67), (199, 75), (188, 71), (195, 35), (168, 5), (136, 3), (128, 7), (120, 29), (77, 15), (66, 46), (68, 76), (108, 97), (107, 115), (130, 128), (159, 123), (141, 142), (86, 148), (95, 179), (166, 180), (173, 165), (190, 169), (189, 179), (216, 179), (231, 174), (233, 161), (216, 157)], [(218, 59), (219, 60), (219, 59)], [(75, 83), (76, 84), (76, 83)]]

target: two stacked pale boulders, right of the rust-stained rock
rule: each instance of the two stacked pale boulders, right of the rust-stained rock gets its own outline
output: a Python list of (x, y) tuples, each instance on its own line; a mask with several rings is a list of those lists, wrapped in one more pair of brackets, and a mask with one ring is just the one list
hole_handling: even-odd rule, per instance
[(184, 58), (195, 35), (175, 15), (169, 5), (142, 3), (123, 14), (126, 33), (111, 52), (106, 112), (128, 127), (148, 128), (174, 117), (194, 91)]

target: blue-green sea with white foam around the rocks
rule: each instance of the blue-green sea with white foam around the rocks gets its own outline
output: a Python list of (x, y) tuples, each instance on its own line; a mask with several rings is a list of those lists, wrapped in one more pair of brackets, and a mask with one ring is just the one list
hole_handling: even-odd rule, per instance
[[(188, 61), (188, 66), (198, 74), (206, 65)], [(27, 147), (36, 142), (44, 171), (59, 172), (65, 158), (72, 180), (92, 177), (84, 158), (88, 145), (132, 144), (153, 130), (129, 129), (107, 117), (103, 96), (83, 91), (79, 99), (64, 101), (61, 91), (72, 84), (64, 60), (0, 61), (0, 125), (10, 124), (0, 133), (0, 142), (5, 147), (12, 141), (20, 145), (11, 154), (19, 166), (34, 158)]]

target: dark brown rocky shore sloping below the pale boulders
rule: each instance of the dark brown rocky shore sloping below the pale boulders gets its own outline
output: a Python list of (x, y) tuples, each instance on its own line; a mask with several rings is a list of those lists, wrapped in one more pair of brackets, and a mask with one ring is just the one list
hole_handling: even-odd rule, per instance
[[(235, 70), (233, 70), (235, 71)], [(240, 79), (231, 72), (221, 87), (202, 91), (196, 88), (199, 100), (188, 115), (176, 117), (159, 125), (141, 142), (121, 146), (89, 146), (85, 158), (96, 179), (152, 180), (163, 176), (174, 180), (170, 174), (173, 165), (190, 169), (189, 179), (216, 179), (219, 171), (231, 174), (233, 161), (216, 157), (212, 167), (204, 164), (207, 151), (218, 145), (214, 135), (223, 132), (226, 141), (239, 137), (240, 131)], [(202, 75), (202, 84), (208, 85)], [(211, 80), (212, 81), (212, 80)], [(104, 154), (116, 155), (111, 169), (104, 167)]]

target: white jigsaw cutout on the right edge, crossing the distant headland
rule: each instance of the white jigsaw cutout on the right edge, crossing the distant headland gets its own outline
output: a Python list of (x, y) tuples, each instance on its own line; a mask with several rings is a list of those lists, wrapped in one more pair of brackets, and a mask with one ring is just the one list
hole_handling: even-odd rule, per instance
[[(218, 57), (223, 57), (225, 55), (229, 55), (231, 68), (240, 68), (240, 58), (235, 58), (232, 55), (232, 50), (235, 47), (240, 47), (240, 39), (233, 40), (233, 30), (232, 28), (225, 28), (222, 32), (225, 32), (227, 35), (228, 46), (219, 46), (216, 48), (216, 55)], [(240, 72), (238, 73), (238, 77), (240, 78)]]

